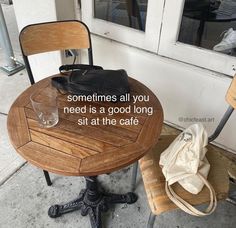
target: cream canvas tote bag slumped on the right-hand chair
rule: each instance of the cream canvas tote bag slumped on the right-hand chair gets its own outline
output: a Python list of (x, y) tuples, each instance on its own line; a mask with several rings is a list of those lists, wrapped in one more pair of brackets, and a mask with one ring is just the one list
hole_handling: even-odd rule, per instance
[[(208, 136), (202, 124), (193, 124), (183, 131), (160, 156), (160, 166), (166, 178), (165, 190), (180, 209), (195, 216), (211, 214), (217, 205), (216, 194), (207, 181), (210, 164), (205, 157)], [(178, 182), (185, 190), (198, 194), (204, 185), (210, 192), (208, 208), (202, 212), (178, 196), (171, 187)]]

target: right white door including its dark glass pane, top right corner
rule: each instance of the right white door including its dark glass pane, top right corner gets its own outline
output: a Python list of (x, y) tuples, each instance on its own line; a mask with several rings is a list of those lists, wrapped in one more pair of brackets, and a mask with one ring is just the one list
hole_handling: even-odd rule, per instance
[(233, 75), (235, 21), (236, 0), (166, 0), (158, 54)]

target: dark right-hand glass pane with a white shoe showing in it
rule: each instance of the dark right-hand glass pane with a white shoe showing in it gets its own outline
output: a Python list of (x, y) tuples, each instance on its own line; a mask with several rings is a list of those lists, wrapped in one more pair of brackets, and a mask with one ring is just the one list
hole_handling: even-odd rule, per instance
[(186, 0), (178, 40), (236, 56), (236, 0)]

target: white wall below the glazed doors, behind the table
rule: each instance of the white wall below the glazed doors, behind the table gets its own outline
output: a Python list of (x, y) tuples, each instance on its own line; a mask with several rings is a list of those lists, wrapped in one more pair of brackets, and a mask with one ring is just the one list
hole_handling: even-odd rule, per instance
[[(203, 122), (213, 132), (228, 107), (225, 94), (230, 77), (126, 46), (99, 36), (92, 36), (94, 64), (104, 68), (124, 68), (128, 74), (147, 85), (159, 98), (165, 121), (185, 128), (192, 122), (180, 117), (214, 118)], [(83, 57), (84, 62), (87, 58)], [(217, 143), (236, 151), (236, 113), (233, 113)]]

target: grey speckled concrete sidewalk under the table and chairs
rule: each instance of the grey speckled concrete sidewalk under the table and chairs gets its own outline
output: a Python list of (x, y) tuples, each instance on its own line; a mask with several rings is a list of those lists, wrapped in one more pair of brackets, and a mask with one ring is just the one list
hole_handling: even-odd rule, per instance
[[(2, 5), (2, 7), (16, 57), (21, 60), (13, 6)], [(0, 64), (2, 61), (3, 51), (0, 49)], [(57, 219), (51, 219), (47, 215), (47, 210), (52, 204), (76, 198), (84, 187), (84, 179), (50, 174), (53, 185), (48, 187), (42, 170), (28, 163), (23, 165), (24, 160), (16, 154), (8, 140), (7, 113), (15, 98), (29, 85), (25, 70), (10, 77), (0, 72), (0, 228), (89, 228), (89, 218), (81, 216), (79, 211)], [(164, 133), (169, 133), (169, 129), (165, 127)], [(137, 180), (138, 201), (132, 205), (116, 205), (111, 211), (104, 213), (105, 228), (146, 227), (150, 209), (140, 173)], [(128, 192), (131, 168), (101, 175), (99, 181), (110, 192)], [(175, 210), (158, 216), (154, 227), (233, 228), (236, 224), (235, 214), (234, 205), (219, 202), (217, 210), (210, 216), (197, 218)]]

